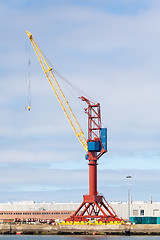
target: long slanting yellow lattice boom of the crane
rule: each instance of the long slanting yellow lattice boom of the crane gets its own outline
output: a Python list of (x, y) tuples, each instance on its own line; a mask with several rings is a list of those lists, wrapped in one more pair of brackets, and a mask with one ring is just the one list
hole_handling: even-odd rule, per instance
[(65, 95), (63, 94), (62, 89), (60, 88), (60, 86), (52, 72), (52, 68), (48, 65), (44, 55), (42, 54), (40, 48), (38, 47), (37, 43), (35, 42), (32, 34), (29, 31), (26, 31), (26, 34), (28, 35), (28, 37), (32, 43), (32, 46), (37, 54), (38, 60), (42, 66), (42, 69), (43, 69), (75, 135), (79, 139), (79, 141), (82, 144), (82, 146), (84, 147), (84, 149), (87, 151), (88, 148), (87, 148), (87, 141), (86, 141), (85, 135), (84, 135), (84, 133), (81, 129), (81, 126), (79, 125)]

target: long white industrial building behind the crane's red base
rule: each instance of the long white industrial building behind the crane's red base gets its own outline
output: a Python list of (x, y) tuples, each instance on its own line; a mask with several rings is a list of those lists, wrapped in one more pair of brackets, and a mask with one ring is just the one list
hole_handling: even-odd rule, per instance
[[(119, 217), (124, 220), (130, 217), (160, 217), (160, 202), (133, 201), (128, 202), (110, 202)], [(8, 202), (0, 203), (0, 211), (75, 211), (80, 203), (36, 203), (34, 201)], [(128, 208), (129, 207), (129, 208)]]

